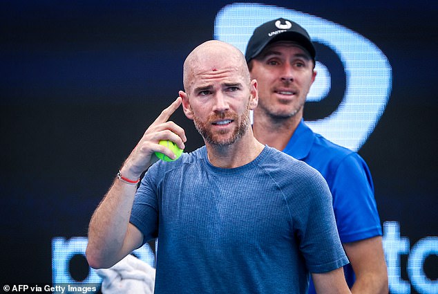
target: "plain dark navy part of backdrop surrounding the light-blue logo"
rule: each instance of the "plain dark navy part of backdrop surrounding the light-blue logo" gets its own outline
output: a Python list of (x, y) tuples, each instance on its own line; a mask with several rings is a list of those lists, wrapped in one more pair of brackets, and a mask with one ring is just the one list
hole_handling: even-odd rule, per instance
[[(0, 3), (0, 282), (50, 283), (52, 238), (86, 236), (124, 158), (182, 89), (184, 58), (233, 2)], [(386, 55), (390, 100), (359, 154), (382, 223), (398, 221), (410, 246), (437, 236), (437, 2), (263, 3), (341, 24)], [(172, 120), (186, 151), (202, 145), (182, 111)], [(437, 265), (426, 259), (430, 279)]]

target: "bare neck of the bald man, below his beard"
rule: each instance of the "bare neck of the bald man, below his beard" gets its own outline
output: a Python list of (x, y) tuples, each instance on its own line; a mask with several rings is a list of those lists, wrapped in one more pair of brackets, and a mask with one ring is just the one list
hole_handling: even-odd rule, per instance
[(250, 163), (265, 147), (254, 138), (251, 128), (236, 143), (227, 146), (206, 143), (209, 162), (215, 167), (235, 168)]

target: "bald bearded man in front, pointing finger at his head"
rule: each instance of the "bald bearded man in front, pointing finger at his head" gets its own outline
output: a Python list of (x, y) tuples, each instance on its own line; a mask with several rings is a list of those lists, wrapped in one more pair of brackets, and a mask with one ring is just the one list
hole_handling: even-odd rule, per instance
[[(183, 78), (93, 214), (88, 263), (111, 267), (158, 237), (155, 293), (307, 293), (310, 273), (318, 293), (350, 293), (327, 184), (254, 138), (257, 82), (240, 50), (205, 42)], [(174, 158), (160, 140), (184, 148), (184, 129), (169, 121), (181, 104), (205, 145), (153, 164), (155, 151)]]

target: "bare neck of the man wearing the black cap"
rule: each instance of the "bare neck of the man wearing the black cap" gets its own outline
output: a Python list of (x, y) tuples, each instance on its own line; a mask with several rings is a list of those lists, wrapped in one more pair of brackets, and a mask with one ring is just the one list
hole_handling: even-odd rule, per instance
[(254, 136), (260, 143), (282, 151), (301, 122), (303, 116), (291, 118), (272, 118), (254, 111)]

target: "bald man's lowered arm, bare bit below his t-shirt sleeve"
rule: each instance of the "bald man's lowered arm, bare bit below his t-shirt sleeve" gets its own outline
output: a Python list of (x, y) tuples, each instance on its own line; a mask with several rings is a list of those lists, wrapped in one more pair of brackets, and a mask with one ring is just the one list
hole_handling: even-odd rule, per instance
[(336, 268), (327, 273), (312, 273), (312, 280), (318, 294), (351, 293), (345, 282), (343, 268)]

